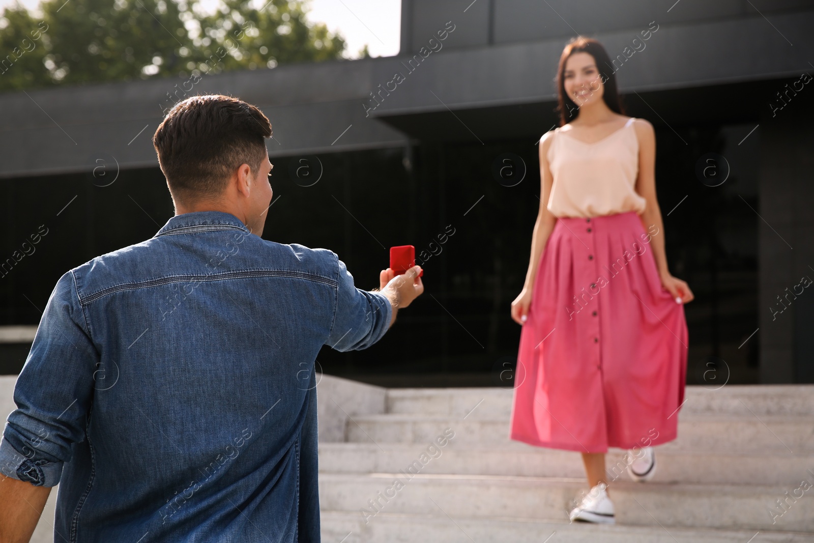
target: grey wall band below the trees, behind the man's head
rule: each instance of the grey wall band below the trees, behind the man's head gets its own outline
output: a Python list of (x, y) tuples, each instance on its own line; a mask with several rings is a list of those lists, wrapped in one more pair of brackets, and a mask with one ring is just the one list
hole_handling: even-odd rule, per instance
[(157, 165), (151, 138), (162, 107), (172, 105), (166, 93), (176, 88), (189, 89), (186, 95), (229, 94), (256, 104), (274, 128), (275, 139), (267, 146), (271, 155), (400, 145), (401, 134), (365, 118), (361, 107), (360, 97), (372, 85), (372, 66), (380, 62), (225, 73), (204, 76), (195, 85), (170, 78), (2, 94), (0, 144), (7, 152), (0, 177), (91, 171), (100, 164)]

